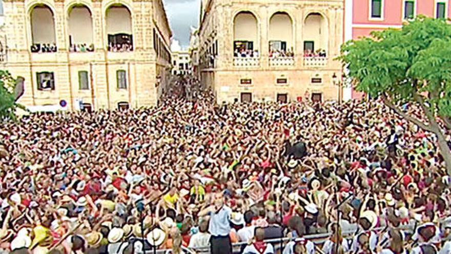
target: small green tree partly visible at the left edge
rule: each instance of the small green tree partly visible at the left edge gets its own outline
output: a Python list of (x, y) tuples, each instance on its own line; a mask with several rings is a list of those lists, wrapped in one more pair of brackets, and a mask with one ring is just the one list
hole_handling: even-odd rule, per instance
[(16, 103), (14, 93), (15, 80), (8, 71), (0, 70), (0, 121), (4, 119), (15, 120), (16, 109), (23, 108)]

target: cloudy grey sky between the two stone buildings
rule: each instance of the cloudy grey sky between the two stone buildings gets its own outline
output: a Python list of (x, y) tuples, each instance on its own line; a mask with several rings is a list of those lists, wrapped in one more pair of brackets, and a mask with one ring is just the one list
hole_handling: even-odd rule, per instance
[(189, 46), (190, 27), (198, 26), (200, 0), (163, 0), (163, 2), (173, 38), (180, 42), (180, 46)]

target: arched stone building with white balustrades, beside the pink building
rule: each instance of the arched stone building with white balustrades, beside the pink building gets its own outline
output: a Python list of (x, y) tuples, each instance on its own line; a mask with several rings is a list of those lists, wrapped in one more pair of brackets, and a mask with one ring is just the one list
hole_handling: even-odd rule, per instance
[(201, 81), (222, 101), (337, 100), (343, 0), (202, 0)]

